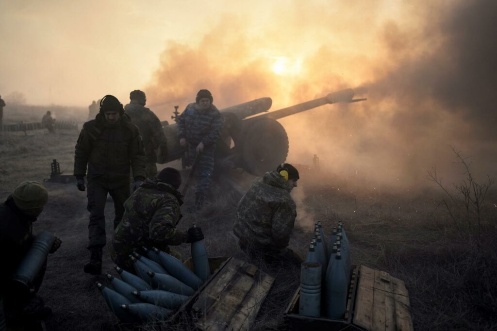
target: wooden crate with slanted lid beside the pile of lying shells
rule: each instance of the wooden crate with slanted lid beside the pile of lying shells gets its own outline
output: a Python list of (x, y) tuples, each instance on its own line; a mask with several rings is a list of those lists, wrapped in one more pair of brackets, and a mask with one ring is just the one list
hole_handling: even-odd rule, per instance
[[(191, 269), (191, 260), (185, 261)], [(274, 278), (235, 257), (209, 258), (211, 277), (171, 317), (186, 318), (199, 330), (249, 330)]]

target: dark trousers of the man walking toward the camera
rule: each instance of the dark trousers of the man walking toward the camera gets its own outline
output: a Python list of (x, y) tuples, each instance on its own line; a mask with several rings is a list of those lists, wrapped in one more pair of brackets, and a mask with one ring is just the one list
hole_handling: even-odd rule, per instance
[(88, 181), (86, 196), (88, 197), (87, 209), (90, 212), (90, 222), (88, 224), (87, 248), (104, 247), (107, 242), (105, 234), (105, 203), (107, 193), (114, 201), (114, 229), (117, 227), (124, 214), (124, 201), (130, 196), (129, 184), (111, 188), (103, 183)]

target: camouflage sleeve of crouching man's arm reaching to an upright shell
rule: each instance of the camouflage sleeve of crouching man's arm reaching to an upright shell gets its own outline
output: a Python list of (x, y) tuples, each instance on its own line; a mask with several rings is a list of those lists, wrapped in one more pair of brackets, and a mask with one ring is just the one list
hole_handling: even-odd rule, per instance
[(176, 230), (180, 217), (177, 201), (161, 201), (149, 225), (149, 237), (158, 248), (177, 246), (184, 242), (184, 235)]

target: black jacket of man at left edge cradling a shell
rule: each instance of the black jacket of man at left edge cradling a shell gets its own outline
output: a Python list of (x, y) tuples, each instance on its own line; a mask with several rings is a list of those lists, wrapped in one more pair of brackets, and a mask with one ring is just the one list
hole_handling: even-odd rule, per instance
[(12, 273), (31, 246), (34, 221), (35, 217), (25, 215), (17, 208), (11, 195), (0, 205), (0, 296), (3, 286), (9, 283)]

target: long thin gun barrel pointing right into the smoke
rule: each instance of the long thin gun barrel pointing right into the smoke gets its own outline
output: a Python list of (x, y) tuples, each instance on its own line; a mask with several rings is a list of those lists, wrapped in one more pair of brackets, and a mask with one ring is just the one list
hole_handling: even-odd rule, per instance
[(283, 117), (287, 117), (293, 114), (300, 113), (302, 111), (306, 111), (309, 109), (313, 109), (319, 106), (323, 106), (328, 103), (336, 103), (336, 102), (351, 102), (354, 97), (354, 91), (351, 88), (342, 89), (337, 92), (333, 92), (324, 96), (322, 98), (314, 99), (311, 101), (302, 102), (296, 104), (294, 106), (286, 107), (283, 109), (271, 111), (267, 114), (263, 114), (257, 116), (256, 118), (272, 118), (272, 119), (280, 119)]

